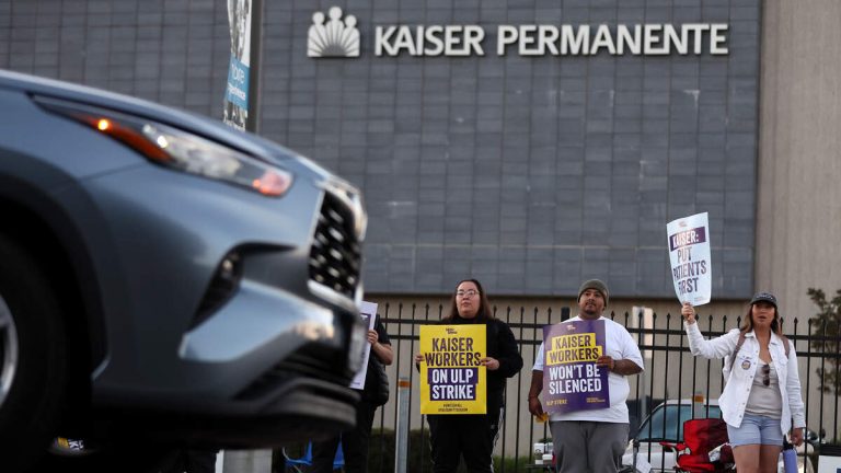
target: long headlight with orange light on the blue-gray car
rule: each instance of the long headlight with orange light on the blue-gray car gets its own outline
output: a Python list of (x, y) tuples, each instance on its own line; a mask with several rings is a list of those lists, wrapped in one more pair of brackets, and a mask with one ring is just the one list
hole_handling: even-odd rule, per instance
[(38, 99), (37, 102), (166, 168), (273, 197), (286, 194), (292, 185), (292, 174), (286, 170), (169, 125), (72, 102), (51, 99)]

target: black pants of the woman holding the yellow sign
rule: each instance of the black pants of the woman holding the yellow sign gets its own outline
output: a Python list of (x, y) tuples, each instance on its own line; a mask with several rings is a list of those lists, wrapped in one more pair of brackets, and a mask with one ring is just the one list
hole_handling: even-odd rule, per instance
[(493, 472), (492, 455), (503, 413), (503, 393), (487, 393), (487, 414), (428, 415), (433, 471), (452, 473), (460, 457), (471, 473)]

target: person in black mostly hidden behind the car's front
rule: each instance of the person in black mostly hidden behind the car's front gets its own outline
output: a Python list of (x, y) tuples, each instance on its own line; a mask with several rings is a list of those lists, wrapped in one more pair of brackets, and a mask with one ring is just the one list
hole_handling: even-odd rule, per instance
[[(376, 316), (376, 315), (375, 315)], [(371, 344), (371, 355), (368, 357), (368, 372), (365, 376), (365, 387), (360, 392), (361, 400), (356, 406), (356, 427), (323, 441), (312, 442), (312, 473), (329, 473), (333, 471), (333, 459), (339, 440), (345, 454), (345, 472), (362, 473), (368, 471), (368, 440), (371, 437), (371, 425), (377, 407), (385, 404), (380, 397), (382, 390), (379, 383), (388, 382), (382, 367), (372, 364), (391, 365), (394, 355), (391, 341), (379, 316), (373, 323), (373, 330), (368, 331), (368, 343)]]

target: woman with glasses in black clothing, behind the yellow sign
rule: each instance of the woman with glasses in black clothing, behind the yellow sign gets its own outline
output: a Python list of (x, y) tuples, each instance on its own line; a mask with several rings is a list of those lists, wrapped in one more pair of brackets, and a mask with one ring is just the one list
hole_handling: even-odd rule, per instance
[[(484, 324), (487, 327), (487, 357), (481, 364), (487, 369), (487, 414), (428, 415), (433, 471), (456, 472), (460, 457), (471, 473), (491, 473), (493, 451), (505, 412), (505, 382), (522, 368), (517, 341), (508, 325), (494, 318), (487, 296), (475, 279), (458, 284), (452, 295), (450, 313), (441, 324)], [(415, 355), (420, 362), (423, 354)]]

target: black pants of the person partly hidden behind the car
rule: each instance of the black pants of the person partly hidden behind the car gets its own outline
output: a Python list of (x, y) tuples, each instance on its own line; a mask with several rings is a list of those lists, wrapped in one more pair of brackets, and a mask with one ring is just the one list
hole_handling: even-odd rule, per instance
[(345, 471), (347, 473), (365, 473), (368, 471), (368, 440), (371, 438), (371, 425), (377, 406), (360, 401), (356, 407), (356, 427), (323, 441), (312, 442), (312, 473), (330, 473), (333, 471), (333, 459), (336, 448), (342, 441), (345, 454)]

